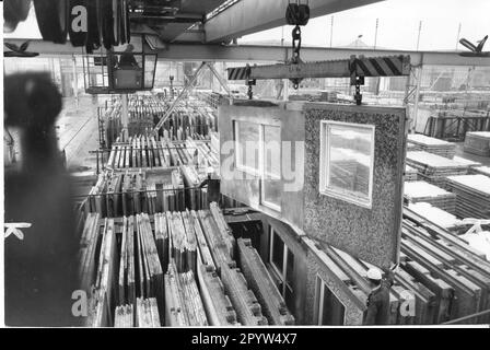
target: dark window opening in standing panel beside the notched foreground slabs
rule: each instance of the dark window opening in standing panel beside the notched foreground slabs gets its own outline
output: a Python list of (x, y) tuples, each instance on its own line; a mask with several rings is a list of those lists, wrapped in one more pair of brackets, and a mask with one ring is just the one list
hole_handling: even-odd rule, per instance
[(270, 229), (269, 262), (272, 266), (278, 289), (282, 298), (284, 298), (288, 307), (292, 310), (294, 306), (294, 292), (292, 287), (294, 278), (294, 255), (272, 228)]

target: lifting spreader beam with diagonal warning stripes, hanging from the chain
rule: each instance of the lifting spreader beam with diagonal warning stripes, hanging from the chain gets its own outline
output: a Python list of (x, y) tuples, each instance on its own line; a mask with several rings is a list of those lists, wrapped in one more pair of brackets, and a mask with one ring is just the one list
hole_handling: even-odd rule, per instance
[(410, 74), (410, 56), (360, 57), (346, 60), (269, 65), (228, 69), (229, 80), (399, 77)]

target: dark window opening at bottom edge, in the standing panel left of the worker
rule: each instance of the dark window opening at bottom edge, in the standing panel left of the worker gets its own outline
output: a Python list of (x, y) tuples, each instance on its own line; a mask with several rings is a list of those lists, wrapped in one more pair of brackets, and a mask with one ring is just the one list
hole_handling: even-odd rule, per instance
[(315, 291), (315, 324), (318, 326), (342, 326), (346, 307), (319, 276), (316, 276)]

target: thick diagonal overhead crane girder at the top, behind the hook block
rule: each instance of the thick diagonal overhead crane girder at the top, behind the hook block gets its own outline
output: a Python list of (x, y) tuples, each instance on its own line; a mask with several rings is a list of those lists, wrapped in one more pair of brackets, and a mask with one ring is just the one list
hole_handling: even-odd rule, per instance
[[(349, 10), (383, 0), (310, 0), (310, 16)], [(222, 43), (287, 24), (288, 1), (242, 0), (205, 23), (206, 42)]]

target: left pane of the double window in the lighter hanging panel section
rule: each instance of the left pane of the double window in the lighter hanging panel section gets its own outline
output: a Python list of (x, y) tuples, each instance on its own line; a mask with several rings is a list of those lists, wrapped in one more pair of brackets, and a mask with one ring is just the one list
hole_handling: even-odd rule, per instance
[(260, 126), (258, 124), (236, 121), (235, 149), (236, 167), (246, 173), (258, 175), (259, 168), (259, 140)]

